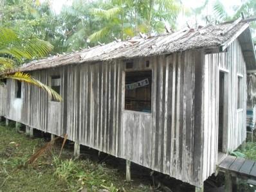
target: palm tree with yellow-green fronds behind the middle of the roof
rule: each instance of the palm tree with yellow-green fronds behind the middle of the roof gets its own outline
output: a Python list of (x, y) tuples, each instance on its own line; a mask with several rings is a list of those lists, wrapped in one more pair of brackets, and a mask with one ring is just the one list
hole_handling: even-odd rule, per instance
[(138, 32), (162, 33), (168, 22), (175, 28), (178, 14), (183, 9), (178, 0), (111, 0), (105, 8), (91, 9), (92, 15), (102, 21), (102, 29), (96, 31), (89, 40), (100, 40), (108, 36), (122, 40), (138, 35)]

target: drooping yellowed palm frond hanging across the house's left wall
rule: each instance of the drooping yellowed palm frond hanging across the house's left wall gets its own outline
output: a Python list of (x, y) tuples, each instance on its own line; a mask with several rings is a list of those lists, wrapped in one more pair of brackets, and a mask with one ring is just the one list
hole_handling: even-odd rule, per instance
[(5, 74), (5, 75), (0, 77), (0, 80), (1, 79), (6, 79), (6, 78), (13, 79), (13, 80), (18, 80), (18, 81), (21, 81), (21, 82), (26, 82), (26, 83), (30, 83), (32, 85), (35, 85), (35, 86), (43, 89), (44, 91), (46, 91), (51, 97), (54, 98), (54, 100), (62, 101), (62, 97), (56, 91), (51, 89), (51, 87), (48, 87), (47, 85), (44, 85), (44, 83), (40, 82), (39, 80), (36, 80), (30, 74), (23, 73), (23, 72), (16, 72), (14, 74)]

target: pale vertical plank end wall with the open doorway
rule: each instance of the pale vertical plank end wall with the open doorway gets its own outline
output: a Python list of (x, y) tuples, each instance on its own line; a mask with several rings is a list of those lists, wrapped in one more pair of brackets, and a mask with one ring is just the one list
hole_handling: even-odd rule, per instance
[[(215, 172), (219, 127), (219, 71), (228, 76), (227, 150), (235, 150), (246, 139), (246, 64), (238, 40), (224, 53), (205, 55), (203, 180)], [(237, 80), (242, 75), (242, 109), (237, 109)]]

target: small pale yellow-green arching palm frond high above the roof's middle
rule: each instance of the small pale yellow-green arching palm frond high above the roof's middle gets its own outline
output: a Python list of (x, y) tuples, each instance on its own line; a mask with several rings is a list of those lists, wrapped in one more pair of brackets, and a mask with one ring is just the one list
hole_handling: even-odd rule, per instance
[(91, 14), (93, 15), (97, 15), (97, 16), (100, 16), (104, 19), (112, 19), (114, 16), (116, 16), (118, 13), (120, 13), (122, 10), (121, 7), (114, 7), (114, 8), (111, 8), (109, 10), (103, 10), (103, 9), (100, 9), (100, 8), (92, 8), (90, 10)]

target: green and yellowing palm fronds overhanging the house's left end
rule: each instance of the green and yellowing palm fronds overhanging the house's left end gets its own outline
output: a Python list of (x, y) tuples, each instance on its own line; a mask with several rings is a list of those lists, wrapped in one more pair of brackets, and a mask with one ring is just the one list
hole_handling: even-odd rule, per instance
[(36, 38), (21, 39), (15, 31), (0, 27), (0, 81), (8, 78), (30, 83), (44, 89), (55, 100), (61, 101), (61, 96), (53, 89), (39, 82), (30, 74), (17, 71), (19, 64), (43, 57), (51, 49), (53, 46), (48, 42)]

